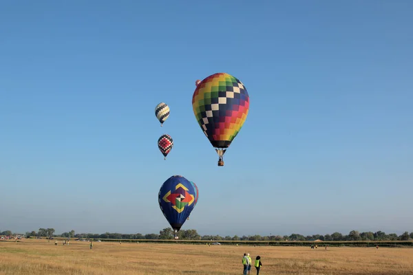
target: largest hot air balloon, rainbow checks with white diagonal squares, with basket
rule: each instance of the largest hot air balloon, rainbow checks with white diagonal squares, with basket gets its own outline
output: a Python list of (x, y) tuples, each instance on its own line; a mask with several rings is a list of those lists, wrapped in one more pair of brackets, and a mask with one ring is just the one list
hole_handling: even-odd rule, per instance
[(249, 96), (240, 80), (226, 73), (208, 76), (192, 96), (195, 118), (218, 153), (218, 166), (224, 166), (224, 153), (240, 132), (249, 110)]

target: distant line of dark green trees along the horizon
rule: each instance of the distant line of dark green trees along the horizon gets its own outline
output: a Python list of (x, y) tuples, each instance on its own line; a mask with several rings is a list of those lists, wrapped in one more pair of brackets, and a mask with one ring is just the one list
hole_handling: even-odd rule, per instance
[[(13, 236), (10, 230), (1, 232), (0, 235), (3, 236)], [(62, 234), (54, 234), (54, 228), (39, 228), (39, 230), (32, 232), (25, 232), (25, 237), (64, 237), (64, 238), (85, 238), (85, 239), (173, 239), (173, 230), (171, 228), (164, 228), (160, 230), (159, 234), (120, 234), (120, 233), (110, 233), (105, 232), (103, 234), (93, 234), (93, 233), (80, 233), (75, 234), (74, 230), (70, 232), (63, 232)], [(404, 232), (401, 235), (396, 233), (386, 234), (383, 231), (377, 232), (359, 232), (357, 230), (352, 230), (348, 234), (341, 234), (340, 232), (334, 232), (332, 234), (314, 234), (314, 235), (301, 235), (301, 234), (290, 234), (290, 236), (284, 235), (270, 235), (270, 236), (260, 236), (260, 235), (243, 235), (243, 236), (220, 236), (220, 235), (203, 235), (198, 234), (195, 229), (180, 230), (178, 232), (178, 237), (181, 240), (203, 240), (203, 241), (409, 241), (413, 239), (413, 232)]]

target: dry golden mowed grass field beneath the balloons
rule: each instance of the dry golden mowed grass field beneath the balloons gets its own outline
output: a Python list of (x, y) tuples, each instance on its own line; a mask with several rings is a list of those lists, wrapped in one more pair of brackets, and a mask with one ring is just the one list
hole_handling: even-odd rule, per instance
[[(413, 274), (412, 248), (0, 241), (0, 274), (242, 274), (242, 255), (260, 255), (260, 274)], [(252, 267), (251, 274), (255, 274)]]

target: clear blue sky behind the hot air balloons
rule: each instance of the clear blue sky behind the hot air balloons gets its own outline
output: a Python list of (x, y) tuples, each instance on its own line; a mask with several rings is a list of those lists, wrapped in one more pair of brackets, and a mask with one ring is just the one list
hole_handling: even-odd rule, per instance
[[(159, 188), (183, 175), (200, 234), (413, 231), (412, 10), (1, 1), (0, 230), (158, 232)], [(191, 106), (216, 72), (251, 98), (224, 167)]]

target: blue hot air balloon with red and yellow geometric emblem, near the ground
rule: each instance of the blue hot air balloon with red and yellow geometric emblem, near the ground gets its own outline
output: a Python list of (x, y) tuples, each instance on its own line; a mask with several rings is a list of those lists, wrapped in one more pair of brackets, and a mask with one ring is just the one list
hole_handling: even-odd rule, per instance
[(169, 177), (160, 186), (159, 207), (171, 225), (175, 239), (178, 239), (178, 231), (195, 207), (195, 197), (195, 189), (191, 182), (179, 175)]

